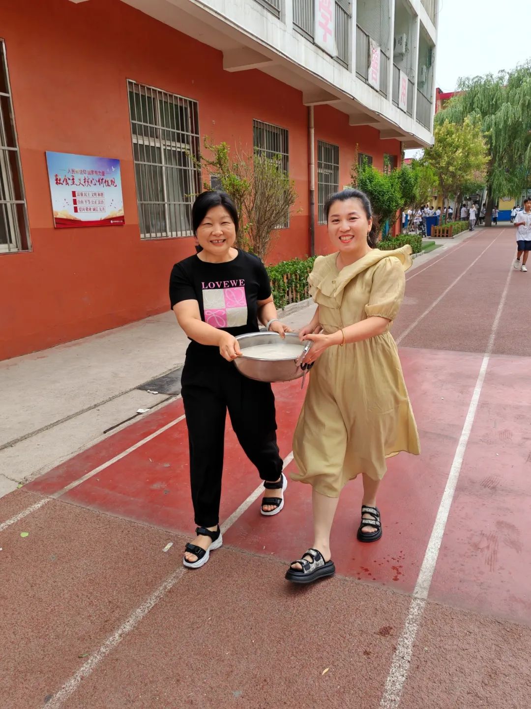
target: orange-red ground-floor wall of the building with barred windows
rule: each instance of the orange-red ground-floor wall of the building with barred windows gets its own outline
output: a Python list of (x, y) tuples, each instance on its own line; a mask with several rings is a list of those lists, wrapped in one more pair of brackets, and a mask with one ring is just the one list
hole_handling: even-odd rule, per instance
[[(0, 359), (74, 340), (169, 307), (174, 262), (193, 240), (141, 240), (132, 162), (127, 79), (198, 101), (201, 135), (250, 149), (253, 118), (289, 130), (290, 174), (299, 200), (271, 260), (309, 254), (308, 111), (302, 94), (258, 71), (224, 72), (222, 53), (118, 0), (3, 0), (0, 32), (21, 151), (32, 251), (0, 255)], [(375, 166), (372, 128), (316, 108), (316, 139), (340, 145), (340, 186), (355, 143)], [(399, 145), (397, 143), (397, 145)], [(119, 158), (125, 226), (53, 227), (45, 151)], [(316, 251), (327, 252), (324, 228)]]

